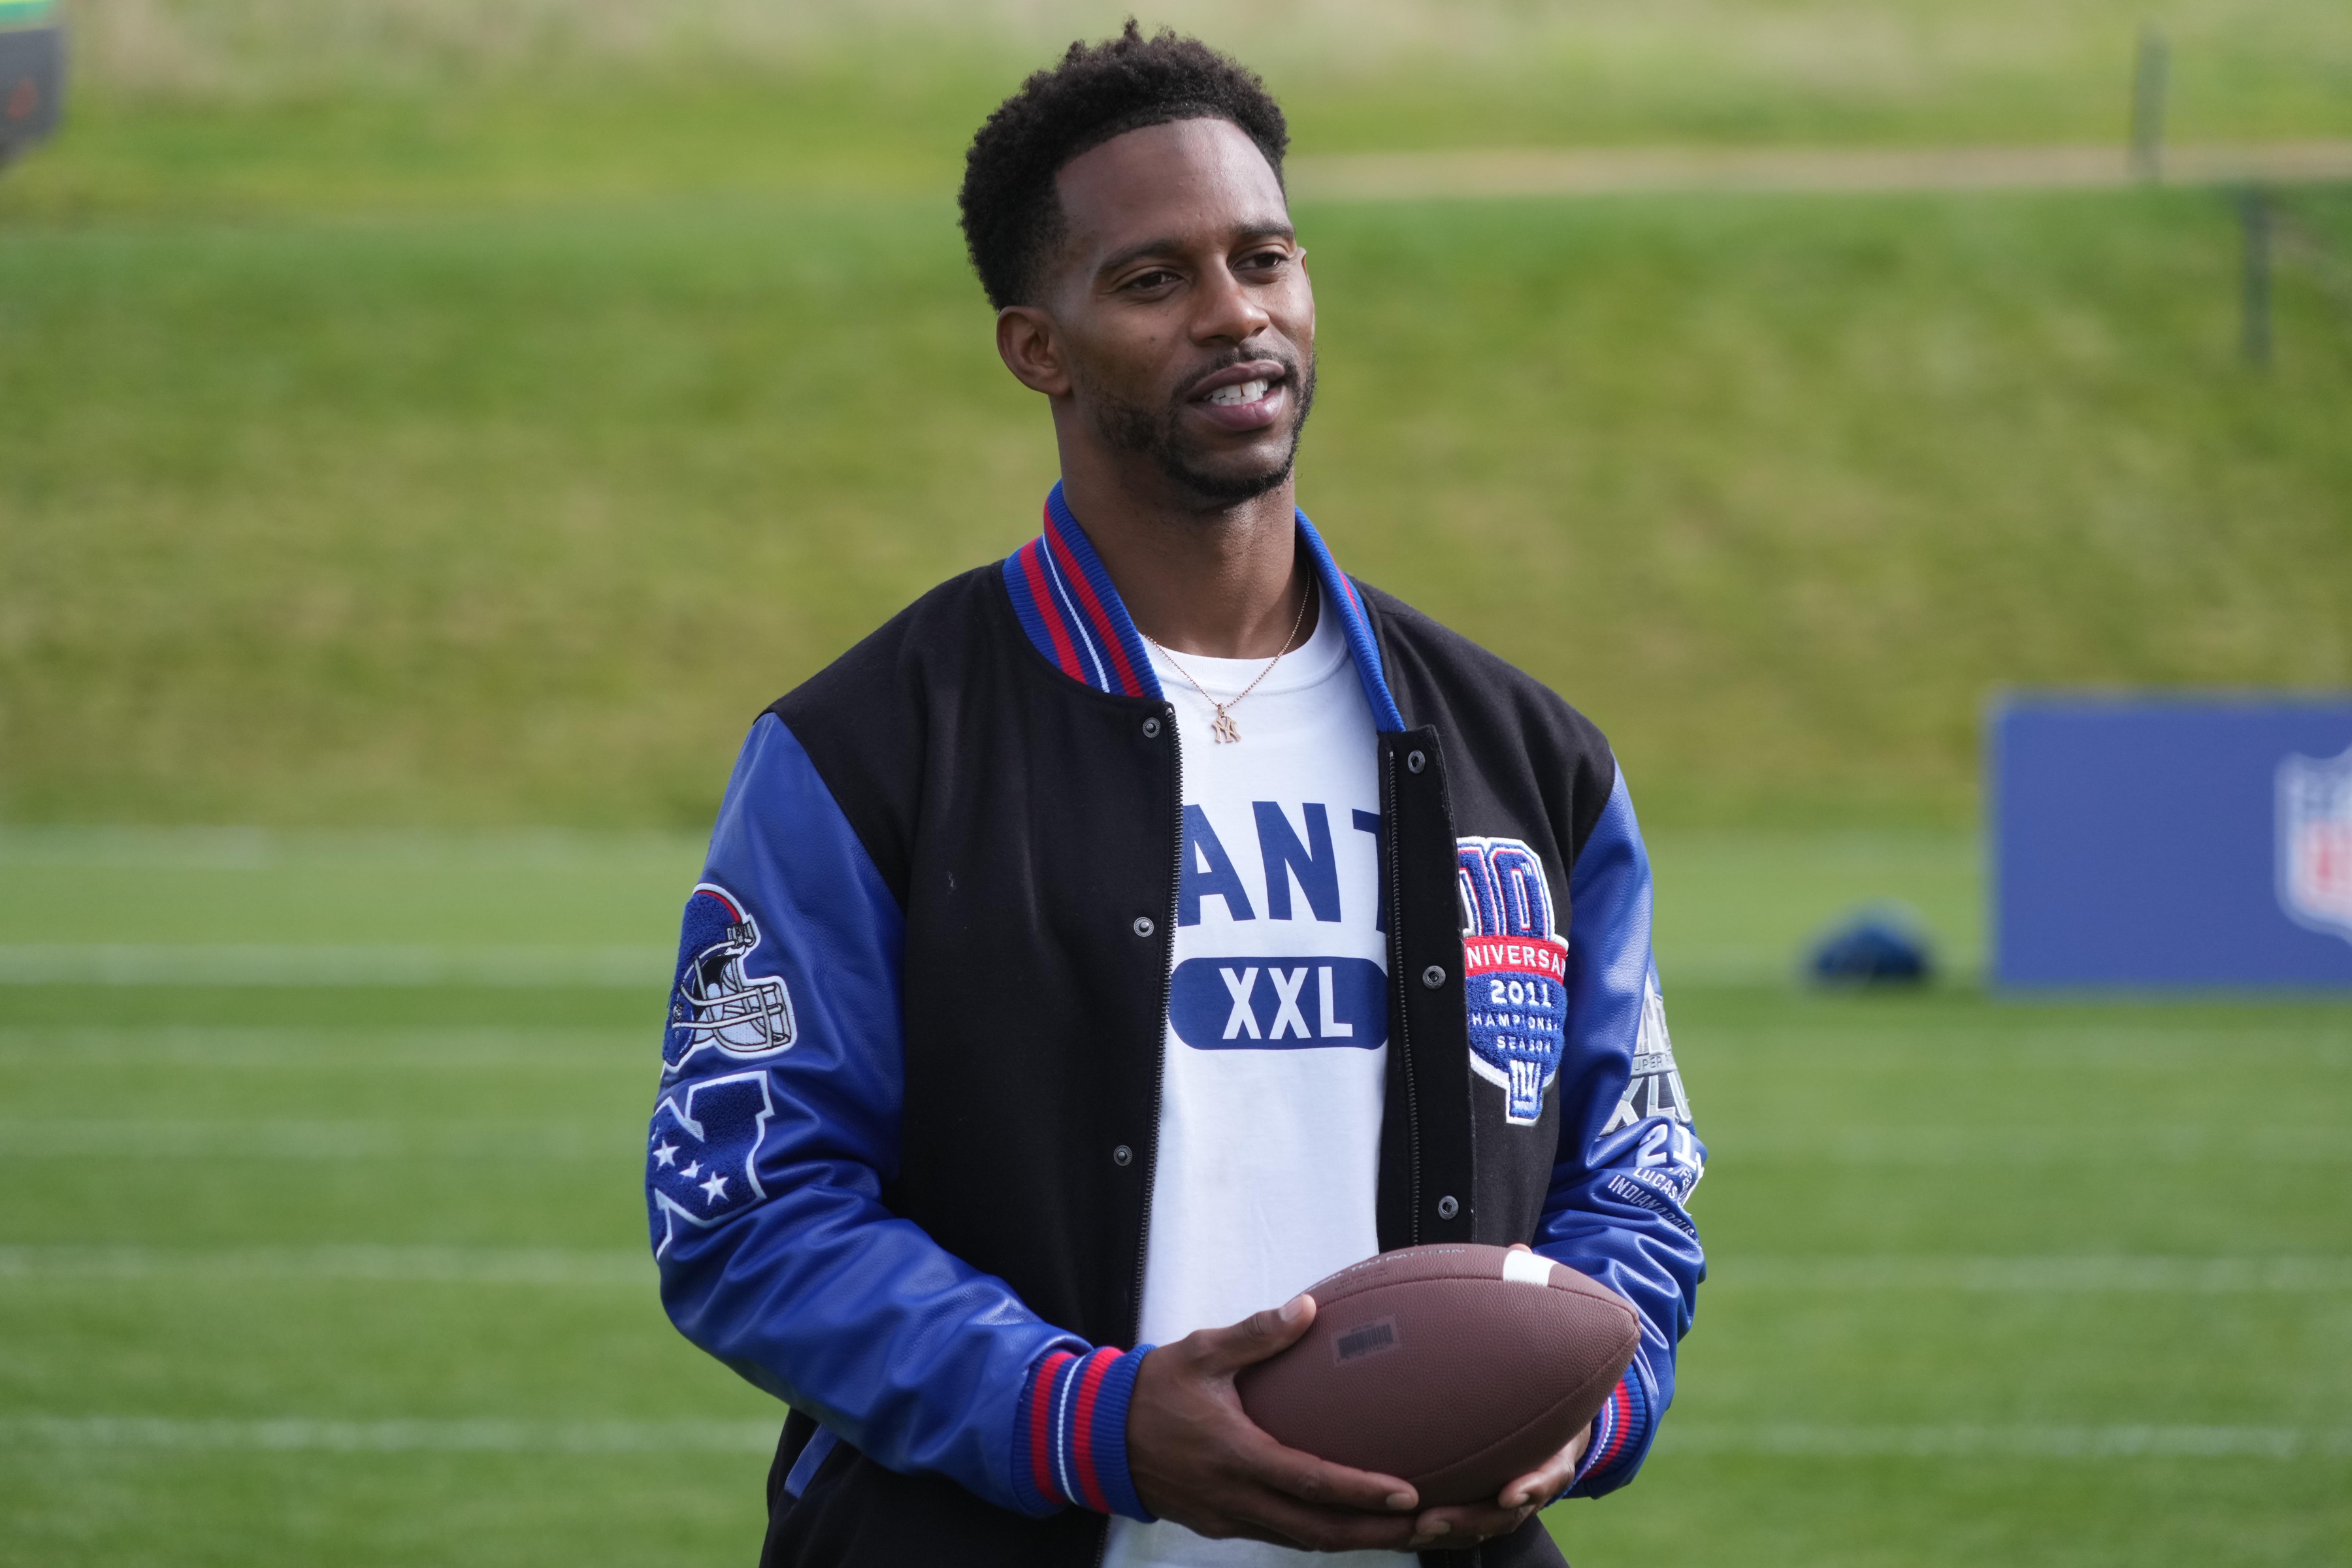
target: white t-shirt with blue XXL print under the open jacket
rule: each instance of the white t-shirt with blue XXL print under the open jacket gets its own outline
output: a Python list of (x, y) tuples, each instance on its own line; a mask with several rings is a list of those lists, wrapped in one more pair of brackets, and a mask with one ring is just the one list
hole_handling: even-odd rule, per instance
[[(1183, 668), (1218, 698), (1263, 658)], [(1374, 1201), (1388, 1074), (1381, 776), (1371, 705), (1329, 604), (1230, 708), (1242, 738), (1152, 649), (1183, 750), (1185, 877), (1143, 1255), (1145, 1345), (1279, 1307), (1381, 1251)], [(1395, 1568), (1110, 1521), (1105, 1568)]]

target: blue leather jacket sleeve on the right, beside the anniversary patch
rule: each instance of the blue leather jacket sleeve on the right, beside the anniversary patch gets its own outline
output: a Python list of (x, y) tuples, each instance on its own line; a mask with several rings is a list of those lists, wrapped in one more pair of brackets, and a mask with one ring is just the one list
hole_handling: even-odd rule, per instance
[(1573, 1495), (1632, 1479), (1675, 1396), (1675, 1345), (1708, 1274), (1686, 1204), (1708, 1150), (1665, 1032), (1651, 959), (1649, 851), (1618, 776), (1569, 875), (1569, 1027), (1559, 1154), (1536, 1251), (1599, 1279), (1642, 1314), (1642, 1347), (1613, 1403), (1613, 1453), (1595, 1446)]

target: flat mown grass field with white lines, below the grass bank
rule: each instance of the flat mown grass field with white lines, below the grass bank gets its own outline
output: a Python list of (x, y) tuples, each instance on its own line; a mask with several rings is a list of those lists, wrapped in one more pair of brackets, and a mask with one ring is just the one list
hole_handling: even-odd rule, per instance
[[(635, 1187), (694, 865), (0, 835), (0, 1561), (746, 1561), (776, 1410), (663, 1324)], [(1966, 837), (1663, 835), (1658, 870), (1712, 1279), (1571, 1556), (2340, 1561), (2352, 1013), (1811, 999), (1788, 943), (1858, 893), (1966, 971)], [(94, 947), (275, 971), (61, 969)], [(421, 947), (485, 969), (367, 983)], [(550, 950), (590, 957), (499, 969)]]

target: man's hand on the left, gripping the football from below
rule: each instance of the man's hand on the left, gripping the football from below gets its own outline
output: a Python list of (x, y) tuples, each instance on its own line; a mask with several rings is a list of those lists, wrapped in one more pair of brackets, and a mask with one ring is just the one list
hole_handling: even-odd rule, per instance
[(1312, 1321), (1315, 1298), (1296, 1295), (1143, 1356), (1127, 1406), (1127, 1469), (1143, 1507), (1211, 1540), (1242, 1535), (1308, 1552), (1411, 1544), (1421, 1505), (1411, 1486), (1284, 1448), (1232, 1392), (1237, 1371), (1287, 1349)]

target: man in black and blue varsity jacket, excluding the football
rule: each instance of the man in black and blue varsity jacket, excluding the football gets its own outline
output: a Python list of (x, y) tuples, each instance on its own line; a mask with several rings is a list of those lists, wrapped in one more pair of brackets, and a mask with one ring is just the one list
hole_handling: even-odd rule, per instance
[[(1703, 1272), (1602, 736), (1291, 503), (1315, 299), (1261, 82), (1134, 24), (969, 153), (1044, 531), (750, 731), (647, 1187), (677, 1328), (790, 1403), (764, 1563), (1562, 1561)], [(1515, 940), (1479, 940), (1515, 938)], [(1282, 1448), (1237, 1368), (1376, 1251), (1625, 1293), (1595, 1427), (1489, 1502)]]

